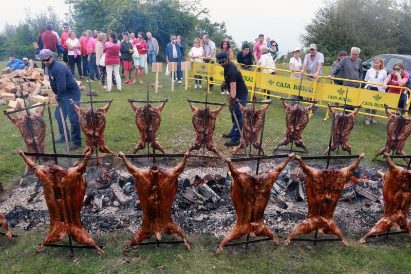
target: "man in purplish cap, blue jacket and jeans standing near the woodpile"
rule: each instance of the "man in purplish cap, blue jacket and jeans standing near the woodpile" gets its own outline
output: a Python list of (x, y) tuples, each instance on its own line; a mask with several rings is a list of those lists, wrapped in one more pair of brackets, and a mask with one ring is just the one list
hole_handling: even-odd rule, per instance
[(63, 126), (66, 127), (68, 141), (70, 140), (67, 123), (65, 122), (65, 125), (63, 125), (60, 115), (61, 108), (63, 110), (63, 120), (66, 121), (68, 116), (68, 120), (71, 124), (72, 144), (69, 149), (76, 150), (81, 147), (80, 122), (79, 116), (76, 111), (74, 111), (74, 107), (70, 104), (70, 99), (73, 101), (80, 101), (81, 94), (79, 85), (74, 80), (74, 77), (68, 67), (57, 60), (54, 60), (51, 50), (42, 49), (39, 53), (39, 57), (43, 64), (48, 68), (50, 86), (53, 93), (56, 95), (58, 102), (58, 107), (55, 108), (54, 117), (59, 125), (60, 139), (56, 140), (56, 142), (65, 142)]

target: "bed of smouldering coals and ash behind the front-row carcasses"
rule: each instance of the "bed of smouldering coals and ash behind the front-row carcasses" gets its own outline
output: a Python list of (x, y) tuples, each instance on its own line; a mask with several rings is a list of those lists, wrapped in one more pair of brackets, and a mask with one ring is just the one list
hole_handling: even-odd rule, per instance
[[(262, 162), (260, 171), (264, 173), (279, 162)], [(147, 160), (134, 160), (133, 163), (141, 168), (149, 165)], [(160, 159), (159, 163), (162, 167), (176, 164), (164, 159)], [(314, 168), (321, 168), (310, 161), (307, 163)], [(198, 161), (191, 160), (179, 177), (179, 189), (172, 210), (173, 220), (185, 233), (221, 237), (236, 221), (230, 197), (231, 177), (228, 176), (225, 163), (217, 162), (219, 166), (213, 168), (194, 167), (196, 164)], [(340, 162), (340, 166), (348, 164)], [(142, 222), (134, 178), (125, 169), (115, 170), (112, 167), (114, 165), (110, 163), (99, 167), (90, 163), (85, 174), (87, 192), (82, 221), (92, 234), (121, 229), (135, 232)], [(299, 168), (296, 162), (291, 161), (274, 183), (265, 211), (267, 224), (272, 231), (291, 231), (307, 215), (302, 183), (304, 173), (297, 172)], [(378, 170), (385, 172), (386, 167), (358, 168), (347, 181), (334, 214), (334, 220), (342, 230), (369, 229), (382, 216), (382, 182)], [(34, 175), (25, 178), (24, 184), (0, 205), (0, 212), (6, 214), (10, 227), (30, 230), (48, 225), (49, 215), (41, 182)]]

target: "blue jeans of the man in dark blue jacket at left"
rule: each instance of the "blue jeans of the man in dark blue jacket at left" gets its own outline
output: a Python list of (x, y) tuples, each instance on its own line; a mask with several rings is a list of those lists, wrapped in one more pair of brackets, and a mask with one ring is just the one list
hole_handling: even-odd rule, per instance
[[(67, 127), (67, 116), (68, 120), (70, 121), (71, 125), (71, 140), (73, 144), (81, 145), (81, 135), (80, 135), (80, 122), (79, 122), (79, 115), (74, 111), (74, 107), (70, 104), (70, 99), (73, 101), (80, 101), (80, 92), (77, 94), (67, 94), (64, 97), (59, 97), (59, 106), (55, 108), (54, 111), (54, 118), (57, 120), (57, 124), (59, 125), (59, 132), (60, 138), (64, 139), (64, 129), (63, 129), (63, 122), (60, 115), (60, 107), (63, 108), (63, 119), (65, 121), (66, 131), (67, 131), (67, 138), (70, 140), (70, 132), (68, 131)], [(79, 105), (79, 104), (77, 104)]]

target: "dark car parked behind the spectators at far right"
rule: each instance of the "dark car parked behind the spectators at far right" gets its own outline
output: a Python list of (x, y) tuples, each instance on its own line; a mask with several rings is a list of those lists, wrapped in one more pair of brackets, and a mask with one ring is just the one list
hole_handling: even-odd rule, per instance
[[(374, 64), (374, 59), (376, 59), (377, 57), (381, 57), (382, 60), (384, 60), (384, 66), (385, 70), (387, 71), (387, 74), (393, 72), (393, 66), (397, 63), (403, 63), (405, 70), (409, 74), (411, 74), (411, 55), (380, 54), (363, 62), (363, 79), (365, 78), (367, 70), (372, 67), (372, 65)], [(411, 88), (411, 80), (408, 80), (407, 87)]]

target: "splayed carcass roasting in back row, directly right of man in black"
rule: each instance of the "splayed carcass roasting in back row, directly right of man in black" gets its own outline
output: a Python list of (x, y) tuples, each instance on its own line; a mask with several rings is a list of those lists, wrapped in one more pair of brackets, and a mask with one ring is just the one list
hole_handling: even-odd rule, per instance
[[(239, 102), (237, 103), (242, 114), (242, 136), (244, 136), (246, 145), (248, 145), (251, 142), (253, 147), (258, 150), (260, 147), (258, 134), (260, 133), (261, 127), (263, 126), (264, 113), (267, 111), (269, 105), (267, 104), (259, 109), (256, 109), (254, 107), (246, 108), (242, 106)], [(234, 154), (236, 154), (242, 148), (244, 148), (244, 145), (242, 142), (240, 142), (240, 145), (235, 150)], [(261, 148), (261, 153), (264, 154), (263, 148)]]

